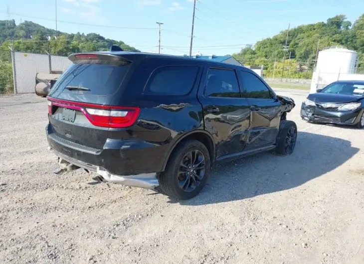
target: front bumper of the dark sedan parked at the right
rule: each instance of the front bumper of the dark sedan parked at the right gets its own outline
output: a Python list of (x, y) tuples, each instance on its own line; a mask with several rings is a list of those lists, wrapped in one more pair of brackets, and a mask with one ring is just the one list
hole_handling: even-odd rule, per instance
[(354, 111), (329, 111), (314, 106), (306, 106), (302, 103), (301, 118), (318, 123), (330, 123), (337, 125), (356, 125), (360, 122), (362, 109)]

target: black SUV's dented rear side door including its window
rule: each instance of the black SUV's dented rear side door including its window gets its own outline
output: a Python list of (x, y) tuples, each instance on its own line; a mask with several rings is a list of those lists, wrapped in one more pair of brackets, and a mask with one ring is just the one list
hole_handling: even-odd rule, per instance
[(237, 155), (246, 145), (250, 107), (240, 96), (235, 69), (209, 68), (204, 70), (198, 91), (203, 107), (205, 130), (210, 132), (216, 146), (216, 159)]

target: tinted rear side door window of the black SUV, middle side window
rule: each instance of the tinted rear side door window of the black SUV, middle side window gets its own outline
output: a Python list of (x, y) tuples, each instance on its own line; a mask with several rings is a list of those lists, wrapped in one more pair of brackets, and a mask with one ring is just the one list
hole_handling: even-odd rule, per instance
[(205, 95), (210, 97), (240, 97), (235, 71), (209, 69)]

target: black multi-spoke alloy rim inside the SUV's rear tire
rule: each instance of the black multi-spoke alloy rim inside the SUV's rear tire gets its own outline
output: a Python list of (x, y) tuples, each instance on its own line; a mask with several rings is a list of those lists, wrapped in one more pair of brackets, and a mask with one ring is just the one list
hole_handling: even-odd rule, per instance
[(180, 163), (178, 170), (179, 186), (184, 192), (191, 192), (201, 184), (206, 170), (205, 157), (201, 151), (189, 151)]

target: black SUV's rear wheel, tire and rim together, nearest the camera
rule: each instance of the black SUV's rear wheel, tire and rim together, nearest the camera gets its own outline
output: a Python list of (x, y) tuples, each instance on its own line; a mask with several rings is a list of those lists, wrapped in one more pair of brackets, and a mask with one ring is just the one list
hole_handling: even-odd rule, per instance
[[(189, 162), (190, 159), (192, 162)], [(197, 169), (191, 171), (188, 168), (190, 164), (194, 164)], [(203, 169), (198, 169), (200, 167)], [(197, 140), (182, 141), (170, 156), (165, 171), (159, 176), (160, 190), (171, 198), (190, 199), (205, 185), (210, 167), (210, 155), (203, 143)]]

